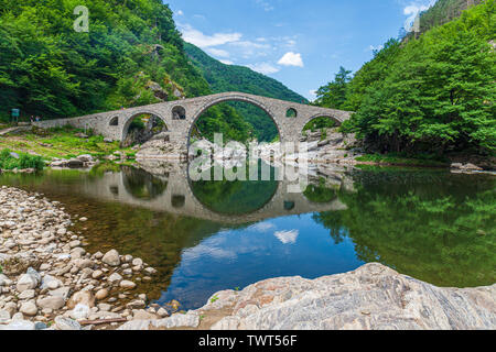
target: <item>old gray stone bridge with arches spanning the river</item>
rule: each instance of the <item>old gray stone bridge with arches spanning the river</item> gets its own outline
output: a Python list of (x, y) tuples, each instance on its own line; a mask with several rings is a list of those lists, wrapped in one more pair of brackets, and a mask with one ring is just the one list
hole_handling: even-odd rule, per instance
[(160, 118), (168, 127), (170, 142), (187, 150), (190, 133), (195, 121), (208, 108), (226, 101), (252, 103), (274, 121), (280, 141), (298, 142), (304, 125), (316, 118), (327, 117), (338, 124), (349, 119), (349, 111), (326, 109), (291, 101), (266, 98), (245, 92), (223, 92), (217, 95), (160, 102), (143, 107), (88, 114), (79, 118), (35, 122), (39, 128), (72, 125), (91, 129), (105, 138), (123, 141), (134, 117), (148, 113)]

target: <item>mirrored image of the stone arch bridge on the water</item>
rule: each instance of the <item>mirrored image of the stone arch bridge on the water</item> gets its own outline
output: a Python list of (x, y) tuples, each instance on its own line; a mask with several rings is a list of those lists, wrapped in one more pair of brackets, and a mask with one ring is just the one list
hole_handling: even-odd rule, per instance
[[(217, 196), (225, 196), (224, 201), (227, 201), (228, 195), (222, 194), (225, 191), (222, 188), (226, 183), (193, 183), (187, 177), (187, 164), (153, 162), (140, 166), (141, 168), (123, 166), (121, 173), (105, 173), (103, 177), (82, 185), (80, 191), (99, 200), (117, 201), (154, 211), (230, 224), (257, 222), (282, 216), (346, 209), (346, 206), (337, 198), (327, 199), (324, 202), (315, 201), (311, 196), (309, 197), (308, 191), (289, 193), (288, 186), (293, 184), (291, 182), (272, 180), (258, 182), (258, 184), (251, 185), (250, 189), (245, 190), (244, 196), (246, 196), (246, 193), (254, 193), (257, 191), (257, 188), (261, 188), (258, 189), (258, 194), (265, 199), (255, 201), (255, 204), (260, 204), (259, 208), (250, 209), (248, 206), (239, 211), (229, 211), (231, 208), (216, 207), (214, 204), (208, 204), (205, 197), (202, 197), (209, 191), (205, 187), (217, 184), (220, 187), (216, 189), (217, 193), (220, 193)], [(348, 186), (349, 183), (345, 179), (344, 174), (335, 173), (334, 169), (327, 170), (327, 174), (330, 178), (326, 182), (334, 187)], [(325, 174), (321, 173), (321, 176), (325, 176)], [(313, 187), (308, 188), (311, 191), (321, 178), (316, 172), (313, 172), (313, 175), (309, 175), (309, 177), (311, 184), (312, 180), (314, 183)], [(241, 195), (231, 195), (231, 197)], [(222, 208), (227, 209), (223, 211)]]

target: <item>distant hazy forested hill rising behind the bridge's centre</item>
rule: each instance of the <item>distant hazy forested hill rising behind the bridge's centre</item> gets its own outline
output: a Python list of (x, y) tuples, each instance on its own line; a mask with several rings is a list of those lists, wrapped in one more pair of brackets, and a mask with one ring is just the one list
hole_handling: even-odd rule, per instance
[[(193, 65), (203, 73), (213, 92), (242, 91), (300, 103), (309, 102), (280, 81), (256, 73), (248, 67), (225, 65), (190, 43), (184, 43), (184, 48)], [(236, 108), (254, 127), (255, 136), (259, 141), (272, 141), (274, 139), (278, 133), (276, 124), (260, 109), (248, 103), (231, 102), (229, 106)]]

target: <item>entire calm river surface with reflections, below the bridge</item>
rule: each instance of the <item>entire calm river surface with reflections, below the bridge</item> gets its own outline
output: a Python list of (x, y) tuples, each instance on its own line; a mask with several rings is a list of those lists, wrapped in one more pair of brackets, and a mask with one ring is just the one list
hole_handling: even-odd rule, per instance
[[(203, 306), (260, 279), (315, 278), (380, 262), (438, 286), (496, 282), (496, 177), (432, 169), (314, 167), (284, 183), (191, 182), (179, 165), (0, 175), (88, 217), (88, 251), (116, 249), (159, 270), (159, 304)], [(83, 228), (84, 227), (84, 228)]]

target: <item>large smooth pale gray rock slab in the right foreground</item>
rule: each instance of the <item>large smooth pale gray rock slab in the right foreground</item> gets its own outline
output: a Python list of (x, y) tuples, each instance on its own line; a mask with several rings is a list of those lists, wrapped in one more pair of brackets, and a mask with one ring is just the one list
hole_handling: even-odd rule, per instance
[(213, 330), (496, 328), (496, 284), (440, 288), (377, 263), (313, 280), (270, 278), (213, 298), (198, 314), (233, 309)]

